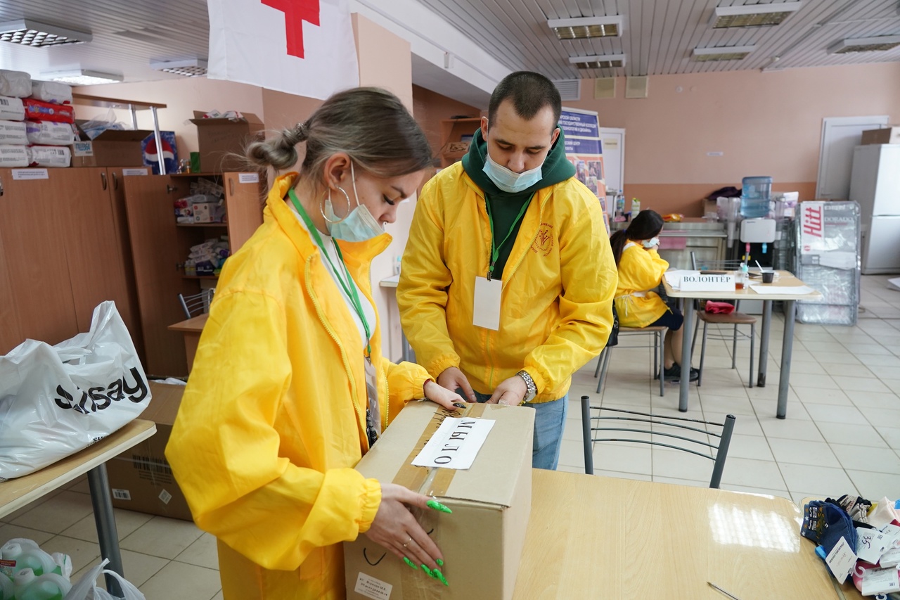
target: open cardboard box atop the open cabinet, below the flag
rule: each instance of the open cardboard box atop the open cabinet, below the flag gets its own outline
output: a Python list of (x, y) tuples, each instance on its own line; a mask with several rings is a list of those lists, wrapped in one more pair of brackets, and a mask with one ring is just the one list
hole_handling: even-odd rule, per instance
[[(191, 123), (197, 126), (202, 173), (247, 170), (239, 157), (244, 156), (247, 141), (255, 139), (263, 131), (264, 125), (256, 114), (242, 115), (243, 118), (238, 121), (204, 119), (202, 111), (193, 111)], [(233, 154), (238, 157), (232, 156)]]

